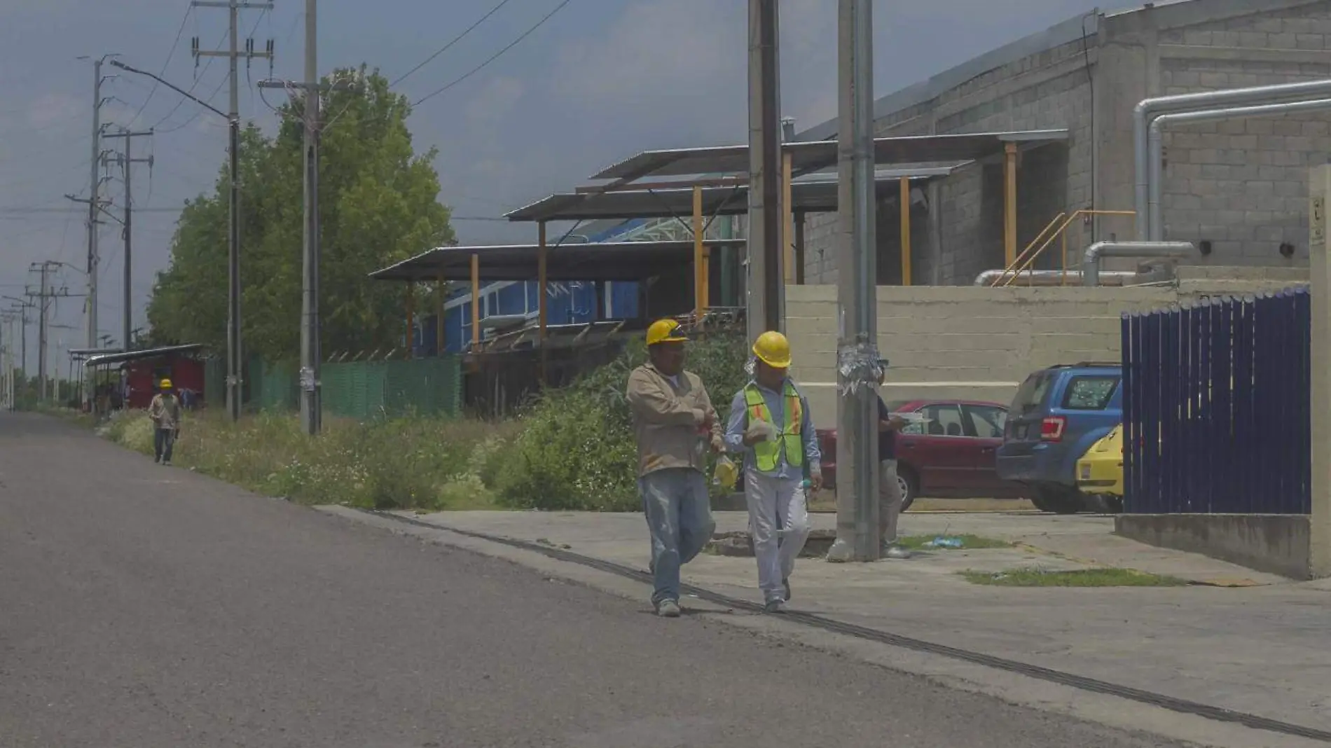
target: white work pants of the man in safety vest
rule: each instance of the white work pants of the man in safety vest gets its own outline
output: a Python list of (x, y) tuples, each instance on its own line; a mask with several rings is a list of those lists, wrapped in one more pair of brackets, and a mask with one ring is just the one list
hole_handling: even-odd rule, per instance
[(757, 586), (763, 602), (785, 599), (784, 580), (795, 571), (795, 559), (809, 539), (809, 507), (803, 480), (772, 478), (744, 471), (744, 500), (757, 558)]

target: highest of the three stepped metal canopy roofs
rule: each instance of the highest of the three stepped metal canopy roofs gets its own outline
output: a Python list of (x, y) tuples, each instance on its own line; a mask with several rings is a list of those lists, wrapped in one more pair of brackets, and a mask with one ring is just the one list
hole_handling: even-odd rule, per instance
[[(1032, 148), (1066, 140), (1066, 129), (880, 137), (873, 140), (873, 161), (878, 165), (978, 161), (1001, 156), (1008, 144)], [(835, 138), (788, 142), (781, 148), (789, 156), (791, 172), (795, 176), (836, 166), (837, 141)], [(648, 177), (747, 172), (748, 146), (721, 145), (644, 150), (600, 170), (591, 178), (631, 182)]]

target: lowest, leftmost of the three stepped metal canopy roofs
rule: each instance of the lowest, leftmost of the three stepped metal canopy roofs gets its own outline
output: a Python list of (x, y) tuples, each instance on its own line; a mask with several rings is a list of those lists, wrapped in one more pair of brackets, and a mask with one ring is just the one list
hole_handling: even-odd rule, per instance
[[(743, 246), (744, 240), (708, 244)], [(535, 281), (540, 272), (540, 250), (535, 244), (443, 246), (375, 270), (370, 277), (399, 282)], [(692, 261), (691, 241), (564, 244), (546, 248), (546, 281), (646, 281)]]

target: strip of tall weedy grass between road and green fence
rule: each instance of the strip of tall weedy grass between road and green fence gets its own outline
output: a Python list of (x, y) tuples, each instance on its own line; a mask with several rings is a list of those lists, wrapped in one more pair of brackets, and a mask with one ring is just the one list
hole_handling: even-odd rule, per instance
[[(101, 433), (153, 454), (153, 426), (144, 411), (120, 414)], [(323, 433), (311, 439), (297, 415), (261, 413), (232, 423), (224, 413), (200, 413), (186, 417), (172, 462), (303, 504), (499, 508), (495, 462), (514, 433), (511, 423), (466, 419), (325, 418)]]

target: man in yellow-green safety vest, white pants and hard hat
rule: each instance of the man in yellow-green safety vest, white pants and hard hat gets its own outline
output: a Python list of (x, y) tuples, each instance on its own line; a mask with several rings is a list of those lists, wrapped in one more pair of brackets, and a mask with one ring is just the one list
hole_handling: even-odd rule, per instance
[(809, 539), (808, 492), (823, 487), (823, 453), (809, 402), (789, 377), (791, 341), (769, 330), (752, 351), (753, 378), (731, 402), (725, 447), (744, 455), (744, 500), (765, 610), (783, 612), (795, 559)]

